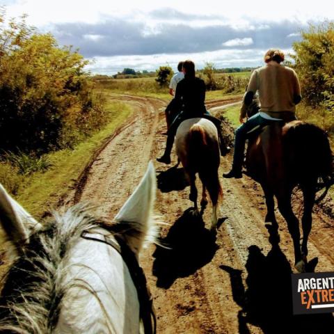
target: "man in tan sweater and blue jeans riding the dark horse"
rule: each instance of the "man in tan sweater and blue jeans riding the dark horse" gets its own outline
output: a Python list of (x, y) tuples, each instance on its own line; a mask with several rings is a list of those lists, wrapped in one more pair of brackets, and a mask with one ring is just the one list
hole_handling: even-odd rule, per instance
[[(264, 127), (273, 120), (296, 120), (296, 104), (301, 102), (301, 88), (296, 72), (292, 68), (280, 65), (284, 61), (284, 54), (278, 49), (269, 49), (264, 55), (264, 61), (267, 65), (255, 70), (250, 77), (240, 111), (241, 125), (235, 133), (232, 169), (224, 173), (223, 177), (242, 177), (246, 138), (255, 127)], [(245, 106), (252, 103), (257, 91), (260, 111), (245, 122)]]

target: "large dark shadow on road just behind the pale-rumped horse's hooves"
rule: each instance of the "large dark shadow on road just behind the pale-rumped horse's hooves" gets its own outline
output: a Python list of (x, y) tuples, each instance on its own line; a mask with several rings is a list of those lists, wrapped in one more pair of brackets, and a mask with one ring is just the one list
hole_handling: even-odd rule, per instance
[(157, 276), (157, 287), (164, 289), (209, 263), (218, 248), (216, 237), (193, 208), (186, 209), (160, 242), (168, 248), (157, 246), (152, 273)]

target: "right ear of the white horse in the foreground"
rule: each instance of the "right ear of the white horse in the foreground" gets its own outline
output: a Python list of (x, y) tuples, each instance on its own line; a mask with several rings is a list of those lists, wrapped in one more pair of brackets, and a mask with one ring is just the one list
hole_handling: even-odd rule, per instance
[(115, 217), (116, 222), (126, 223), (129, 226), (129, 230), (123, 236), (136, 253), (141, 250), (145, 239), (149, 241), (154, 239), (153, 209), (156, 191), (157, 178), (150, 161), (143, 179)]

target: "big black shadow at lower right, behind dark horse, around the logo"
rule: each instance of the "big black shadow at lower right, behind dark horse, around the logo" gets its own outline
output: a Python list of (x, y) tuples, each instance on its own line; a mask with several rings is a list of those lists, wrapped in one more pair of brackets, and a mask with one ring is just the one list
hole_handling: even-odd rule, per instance
[[(260, 327), (264, 334), (333, 333), (334, 317), (331, 313), (292, 314), (292, 268), (280, 250), (279, 240), (269, 240), (272, 248), (267, 256), (255, 245), (248, 248), (245, 266), (247, 288), (241, 270), (221, 266), (230, 274), (233, 299), (242, 308), (238, 314), (239, 333), (250, 333), (247, 324)], [(315, 271), (316, 266), (317, 258), (308, 263), (307, 271)]]

